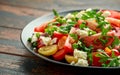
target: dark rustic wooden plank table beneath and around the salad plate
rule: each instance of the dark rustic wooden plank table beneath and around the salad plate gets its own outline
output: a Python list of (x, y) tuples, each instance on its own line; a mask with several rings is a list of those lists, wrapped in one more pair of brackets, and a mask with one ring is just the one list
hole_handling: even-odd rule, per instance
[(0, 75), (74, 75), (82, 70), (50, 63), (22, 45), (20, 33), (37, 17), (69, 9), (120, 10), (120, 0), (0, 0)]

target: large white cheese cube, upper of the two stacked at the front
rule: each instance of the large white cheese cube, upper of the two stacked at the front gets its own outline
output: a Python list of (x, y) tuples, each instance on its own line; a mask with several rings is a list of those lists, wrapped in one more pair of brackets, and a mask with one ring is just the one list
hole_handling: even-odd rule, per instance
[(73, 53), (75, 58), (87, 59), (87, 52), (75, 49)]

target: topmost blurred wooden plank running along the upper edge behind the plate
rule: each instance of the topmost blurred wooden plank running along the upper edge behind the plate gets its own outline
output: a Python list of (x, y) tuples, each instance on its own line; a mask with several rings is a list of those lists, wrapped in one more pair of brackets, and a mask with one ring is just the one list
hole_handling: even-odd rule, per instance
[(2, 0), (2, 4), (13, 6), (35, 8), (39, 10), (54, 9), (76, 9), (76, 8), (105, 8), (105, 9), (119, 9), (120, 0)]

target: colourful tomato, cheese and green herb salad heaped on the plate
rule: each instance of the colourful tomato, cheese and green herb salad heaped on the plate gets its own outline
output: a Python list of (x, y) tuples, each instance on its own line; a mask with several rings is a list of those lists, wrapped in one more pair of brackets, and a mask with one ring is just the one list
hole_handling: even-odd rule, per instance
[(85, 9), (54, 18), (34, 28), (32, 49), (75, 66), (120, 67), (120, 12)]

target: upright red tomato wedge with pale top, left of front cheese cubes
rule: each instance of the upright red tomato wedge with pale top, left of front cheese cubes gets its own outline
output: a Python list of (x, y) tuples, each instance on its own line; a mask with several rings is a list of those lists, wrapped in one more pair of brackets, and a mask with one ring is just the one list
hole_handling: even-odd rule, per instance
[(69, 36), (67, 37), (67, 39), (65, 41), (64, 49), (65, 49), (66, 53), (73, 53), (73, 48), (72, 48), (72, 44), (70, 43)]

